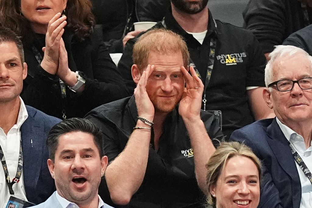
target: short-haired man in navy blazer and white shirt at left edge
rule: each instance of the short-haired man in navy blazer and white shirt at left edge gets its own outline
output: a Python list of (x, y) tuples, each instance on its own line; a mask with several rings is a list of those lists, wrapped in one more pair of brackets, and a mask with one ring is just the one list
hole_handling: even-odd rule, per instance
[(21, 40), (0, 27), (0, 207), (10, 197), (41, 203), (55, 190), (46, 137), (60, 120), (25, 106), (19, 95), (26, 76)]

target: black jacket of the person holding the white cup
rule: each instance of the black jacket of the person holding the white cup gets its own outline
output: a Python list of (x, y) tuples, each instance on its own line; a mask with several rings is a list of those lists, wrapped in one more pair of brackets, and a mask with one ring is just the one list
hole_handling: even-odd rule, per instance
[(97, 24), (103, 25), (103, 40), (110, 53), (122, 53), (122, 39), (138, 21), (160, 21), (169, 0), (91, 0)]

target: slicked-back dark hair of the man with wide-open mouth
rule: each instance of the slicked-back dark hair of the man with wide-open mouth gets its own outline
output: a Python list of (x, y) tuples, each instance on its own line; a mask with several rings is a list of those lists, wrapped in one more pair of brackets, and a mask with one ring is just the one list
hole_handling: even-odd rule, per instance
[(85, 132), (93, 136), (93, 141), (99, 150), (102, 158), (105, 153), (103, 149), (103, 134), (102, 131), (92, 124), (89, 120), (83, 118), (70, 118), (54, 125), (46, 140), (46, 145), (49, 151), (49, 158), (54, 162), (56, 149), (58, 147), (59, 138), (69, 132)]

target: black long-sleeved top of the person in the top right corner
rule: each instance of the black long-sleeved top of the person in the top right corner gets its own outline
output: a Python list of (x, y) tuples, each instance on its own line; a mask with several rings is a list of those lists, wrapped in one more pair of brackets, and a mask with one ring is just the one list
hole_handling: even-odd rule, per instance
[(312, 23), (312, 9), (307, 7), (307, 22), (298, 0), (250, 0), (243, 17), (264, 53), (282, 44), (290, 34)]

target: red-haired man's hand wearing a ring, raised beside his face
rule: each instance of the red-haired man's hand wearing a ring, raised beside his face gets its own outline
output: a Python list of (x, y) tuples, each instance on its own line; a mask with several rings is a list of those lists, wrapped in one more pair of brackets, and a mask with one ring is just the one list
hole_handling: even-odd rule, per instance
[(180, 101), (179, 114), (184, 121), (200, 119), (202, 92), (204, 91), (202, 80), (197, 77), (192, 66), (190, 67), (190, 71), (192, 75), (184, 67), (181, 67), (186, 87)]

